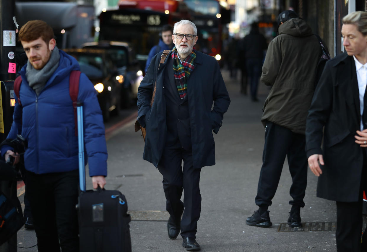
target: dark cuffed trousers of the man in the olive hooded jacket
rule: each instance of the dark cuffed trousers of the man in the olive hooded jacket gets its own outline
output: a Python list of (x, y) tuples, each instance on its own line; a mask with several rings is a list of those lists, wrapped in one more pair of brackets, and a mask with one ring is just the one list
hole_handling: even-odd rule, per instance
[(284, 160), (287, 156), (292, 176), (290, 195), (291, 205), (304, 207), (303, 201), (307, 185), (307, 157), (305, 135), (296, 134), (290, 129), (272, 122), (266, 123), (265, 145), (262, 167), (255, 197), (256, 205), (271, 205), (279, 184)]

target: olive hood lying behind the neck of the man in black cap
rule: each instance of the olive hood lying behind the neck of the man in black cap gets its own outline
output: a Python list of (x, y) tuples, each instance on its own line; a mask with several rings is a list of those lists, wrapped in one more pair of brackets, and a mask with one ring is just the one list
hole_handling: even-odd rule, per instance
[(295, 37), (311, 36), (312, 30), (303, 19), (291, 18), (279, 26), (279, 35), (288, 34)]

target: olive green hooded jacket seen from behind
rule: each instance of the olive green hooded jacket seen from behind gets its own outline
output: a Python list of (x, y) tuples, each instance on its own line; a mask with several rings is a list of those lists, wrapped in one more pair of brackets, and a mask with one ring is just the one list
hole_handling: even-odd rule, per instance
[(279, 36), (269, 43), (261, 81), (272, 86), (261, 121), (271, 121), (292, 132), (305, 134), (306, 117), (315, 90), (321, 46), (310, 26), (292, 18), (279, 26)]

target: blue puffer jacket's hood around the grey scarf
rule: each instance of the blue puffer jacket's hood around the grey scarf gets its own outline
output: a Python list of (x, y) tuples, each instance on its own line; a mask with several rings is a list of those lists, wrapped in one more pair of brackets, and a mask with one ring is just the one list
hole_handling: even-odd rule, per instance
[[(59, 54), (60, 54), (59, 66), (55, 70), (54, 74), (52, 74), (50, 79), (47, 81), (47, 83), (50, 83), (55, 78), (64, 78), (68, 76), (70, 74), (70, 71), (72, 70), (80, 71), (79, 63), (73, 56), (70, 56), (69, 54), (66, 54), (66, 52), (61, 50), (59, 50)], [(27, 69), (27, 64), (25, 64), (19, 71), (19, 74), (21, 74), (23, 80), (26, 80), (25, 73)]]

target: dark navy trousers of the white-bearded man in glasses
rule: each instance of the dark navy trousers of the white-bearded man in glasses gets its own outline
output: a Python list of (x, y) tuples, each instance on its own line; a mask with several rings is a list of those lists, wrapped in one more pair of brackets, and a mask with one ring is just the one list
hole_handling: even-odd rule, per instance
[[(183, 161), (183, 169), (181, 163)], [(167, 211), (181, 220), (181, 236), (196, 238), (197, 221), (200, 218), (200, 171), (193, 167), (192, 152), (181, 147), (179, 142), (166, 146), (158, 164), (163, 175), (163, 190), (167, 200)], [(180, 200), (185, 191), (183, 203)]]

